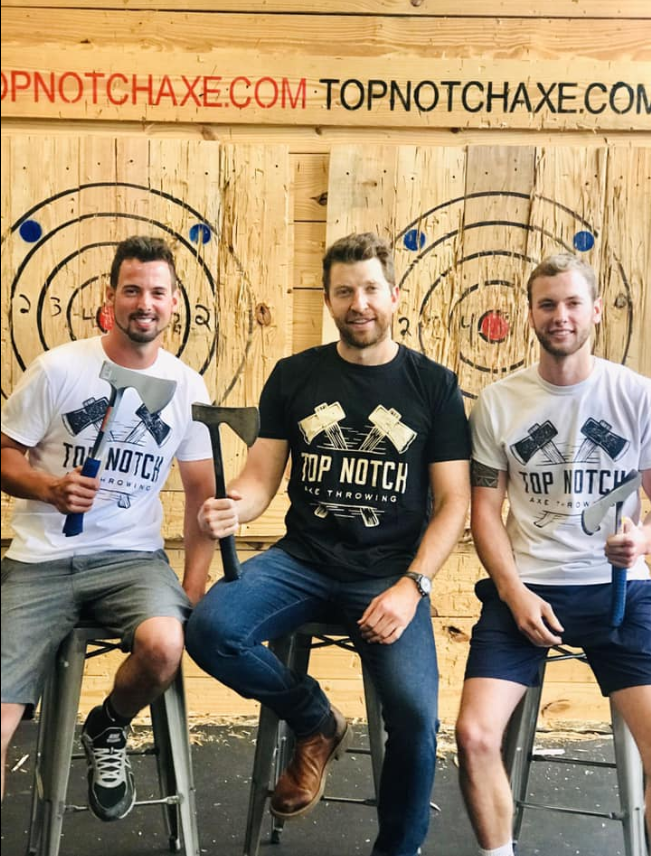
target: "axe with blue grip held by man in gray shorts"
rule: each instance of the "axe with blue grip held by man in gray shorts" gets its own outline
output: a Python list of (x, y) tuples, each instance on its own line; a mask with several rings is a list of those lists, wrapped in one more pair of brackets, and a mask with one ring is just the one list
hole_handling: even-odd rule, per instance
[[(123, 366), (108, 362), (108, 360), (102, 363), (99, 376), (111, 385), (111, 396), (91, 453), (84, 461), (84, 466), (81, 470), (82, 476), (89, 476), (90, 478), (95, 478), (99, 472), (109, 429), (115, 420), (115, 414), (122, 401), (124, 390), (129, 387), (135, 389), (147, 410), (150, 413), (158, 413), (159, 410), (167, 407), (176, 389), (175, 380), (164, 380), (163, 378), (152, 377), (133, 369), (125, 369)], [(83, 529), (83, 514), (75, 512), (66, 516), (63, 532), (67, 537), (79, 535), (83, 532)]]

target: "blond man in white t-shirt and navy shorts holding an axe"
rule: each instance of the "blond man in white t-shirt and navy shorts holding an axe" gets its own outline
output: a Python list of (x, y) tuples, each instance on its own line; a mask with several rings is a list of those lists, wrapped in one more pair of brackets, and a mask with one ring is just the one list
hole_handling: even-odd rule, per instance
[[(482, 856), (513, 854), (505, 728), (541, 660), (583, 648), (602, 693), (640, 750), (651, 817), (651, 515), (640, 497), (590, 536), (581, 513), (630, 470), (651, 497), (651, 381), (591, 353), (601, 320), (595, 275), (571, 254), (544, 260), (527, 285), (540, 361), (487, 387), (471, 414), (472, 532), (490, 579), (476, 587), (457, 722), (461, 787)], [(509, 513), (502, 520), (508, 496)], [(628, 569), (623, 623), (609, 620), (611, 566)], [(647, 820), (648, 822), (648, 820)]]

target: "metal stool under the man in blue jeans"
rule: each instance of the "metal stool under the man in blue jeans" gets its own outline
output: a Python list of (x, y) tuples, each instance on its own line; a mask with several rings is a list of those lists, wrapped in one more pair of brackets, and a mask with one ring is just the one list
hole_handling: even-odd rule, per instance
[[(314, 640), (318, 641), (314, 641)], [(310, 653), (314, 648), (336, 645), (346, 651), (355, 648), (346, 636), (346, 628), (341, 624), (310, 623), (304, 624), (291, 636), (269, 643), (276, 656), (286, 663), (290, 669), (301, 674), (307, 672)], [(364, 681), (364, 699), (366, 702), (366, 717), (368, 723), (369, 749), (350, 748), (348, 752), (357, 755), (370, 755), (373, 767), (373, 784), (375, 794), (368, 799), (323, 796), (329, 802), (359, 803), (376, 806), (380, 787), (380, 774), (384, 761), (385, 732), (382, 722), (380, 702), (375, 693), (373, 682), (366, 669), (362, 668)], [(258, 738), (253, 760), (251, 775), (251, 790), (249, 792), (249, 809), (246, 821), (244, 840), (244, 856), (257, 856), (260, 847), (260, 831), (267, 798), (273, 793), (273, 784), (287, 766), (293, 749), (291, 731), (284, 722), (269, 708), (260, 708)], [(273, 819), (271, 841), (278, 843), (283, 829), (283, 821)]]

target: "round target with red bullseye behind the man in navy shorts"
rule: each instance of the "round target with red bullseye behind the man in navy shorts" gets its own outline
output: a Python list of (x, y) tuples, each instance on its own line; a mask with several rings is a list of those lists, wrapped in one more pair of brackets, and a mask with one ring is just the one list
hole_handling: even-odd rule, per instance
[[(468, 398), (477, 397), (489, 375), (498, 379), (521, 368), (534, 353), (523, 284), (541, 256), (506, 247), (523, 248), (538, 242), (545, 246), (544, 255), (584, 253), (599, 247), (599, 233), (588, 220), (540, 195), (535, 199), (549, 212), (545, 222), (555, 224), (556, 234), (515, 217), (464, 222), (470, 200), (485, 200), (494, 206), (500, 199), (511, 212), (517, 204), (528, 205), (531, 197), (515, 191), (458, 196), (412, 220), (394, 242), (396, 267), (404, 271), (398, 280), (402, 341), (417, 345), (438, 362), (459, 366), (460, 386)], [(459, 257), (458, 248), (466, 242), (483, 248)], [(604, 356), (623, 363), (632, 336), (631, 288), (619, 261), (614, 257), (608, 261), (617, 276), (611, 277), (604, 303), (609, 312), (620, 314), (625, 335), (609, 341), (610, 350)], [(608, 314), (606, 323), (607, 319)]]

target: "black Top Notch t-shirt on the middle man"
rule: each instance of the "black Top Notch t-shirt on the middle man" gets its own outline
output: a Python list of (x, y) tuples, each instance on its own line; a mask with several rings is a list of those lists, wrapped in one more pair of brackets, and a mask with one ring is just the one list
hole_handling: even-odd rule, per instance
[(260, 436), (291, 451), (287, 553), (340, 580), (401, 574), (429, 520), (428, 465), (470, 457), (453, 372), (400, 346), (379, 366), (322, 345), (278, 362)]

